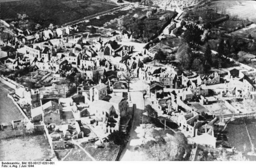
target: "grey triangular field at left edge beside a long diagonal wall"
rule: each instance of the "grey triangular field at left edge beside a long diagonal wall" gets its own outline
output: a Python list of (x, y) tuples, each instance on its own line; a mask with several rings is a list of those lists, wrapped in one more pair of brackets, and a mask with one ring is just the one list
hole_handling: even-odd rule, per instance
[(7, 97), (7, 93), (8, 91), (0, 86), (0, 123), (10, 124), (11, 120), (20, 120), (23, 119), (23, 116), (11, 99)]

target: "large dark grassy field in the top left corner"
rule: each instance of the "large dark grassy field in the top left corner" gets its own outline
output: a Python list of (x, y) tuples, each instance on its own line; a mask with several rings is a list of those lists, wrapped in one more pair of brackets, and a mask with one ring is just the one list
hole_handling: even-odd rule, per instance
[(19, 0), (1, 3), (1, 19), (15, 20), (17, 13), (26, 14), (43, 27), (61, 25), (116, 7), (104, 0)]

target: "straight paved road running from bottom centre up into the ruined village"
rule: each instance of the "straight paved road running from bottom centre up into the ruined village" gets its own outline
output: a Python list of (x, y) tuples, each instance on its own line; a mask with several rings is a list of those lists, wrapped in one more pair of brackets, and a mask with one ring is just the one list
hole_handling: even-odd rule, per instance
[(144, 111), (143, 93), (139, 91), (130, 92), (130, 97), (133, 104), (136, 104), (136, 110), (134, 111), (134, 119), (132, 121), (132, 127), (130, 130), (130, 139), (119, 158), (120, 161), (133, 161), (135, 160), (135, 158), (137, 158), (137, 160), (140, 160), (139, 157), (136, 157), (138, 153), (134, 152), (133, 146), (131, 146), (130, 143), (132, 139), (138, 139), (135, 129), (137, 126), (140, 125), (141, 114)]

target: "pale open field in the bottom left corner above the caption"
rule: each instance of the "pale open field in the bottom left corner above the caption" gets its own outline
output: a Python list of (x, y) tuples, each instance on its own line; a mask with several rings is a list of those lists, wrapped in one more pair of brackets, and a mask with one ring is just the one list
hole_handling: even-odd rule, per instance
[(44, 135), (24, 136), (0, 141), (0, 160), (45, 160), (51, 156)]

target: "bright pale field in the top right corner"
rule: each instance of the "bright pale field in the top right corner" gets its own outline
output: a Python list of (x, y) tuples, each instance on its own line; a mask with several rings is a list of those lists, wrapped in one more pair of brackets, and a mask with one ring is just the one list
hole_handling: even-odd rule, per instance
[(210, 7), (220, 14), (256, 21), (256, 1), (253, 0), (219, 0), (211, 2)]

